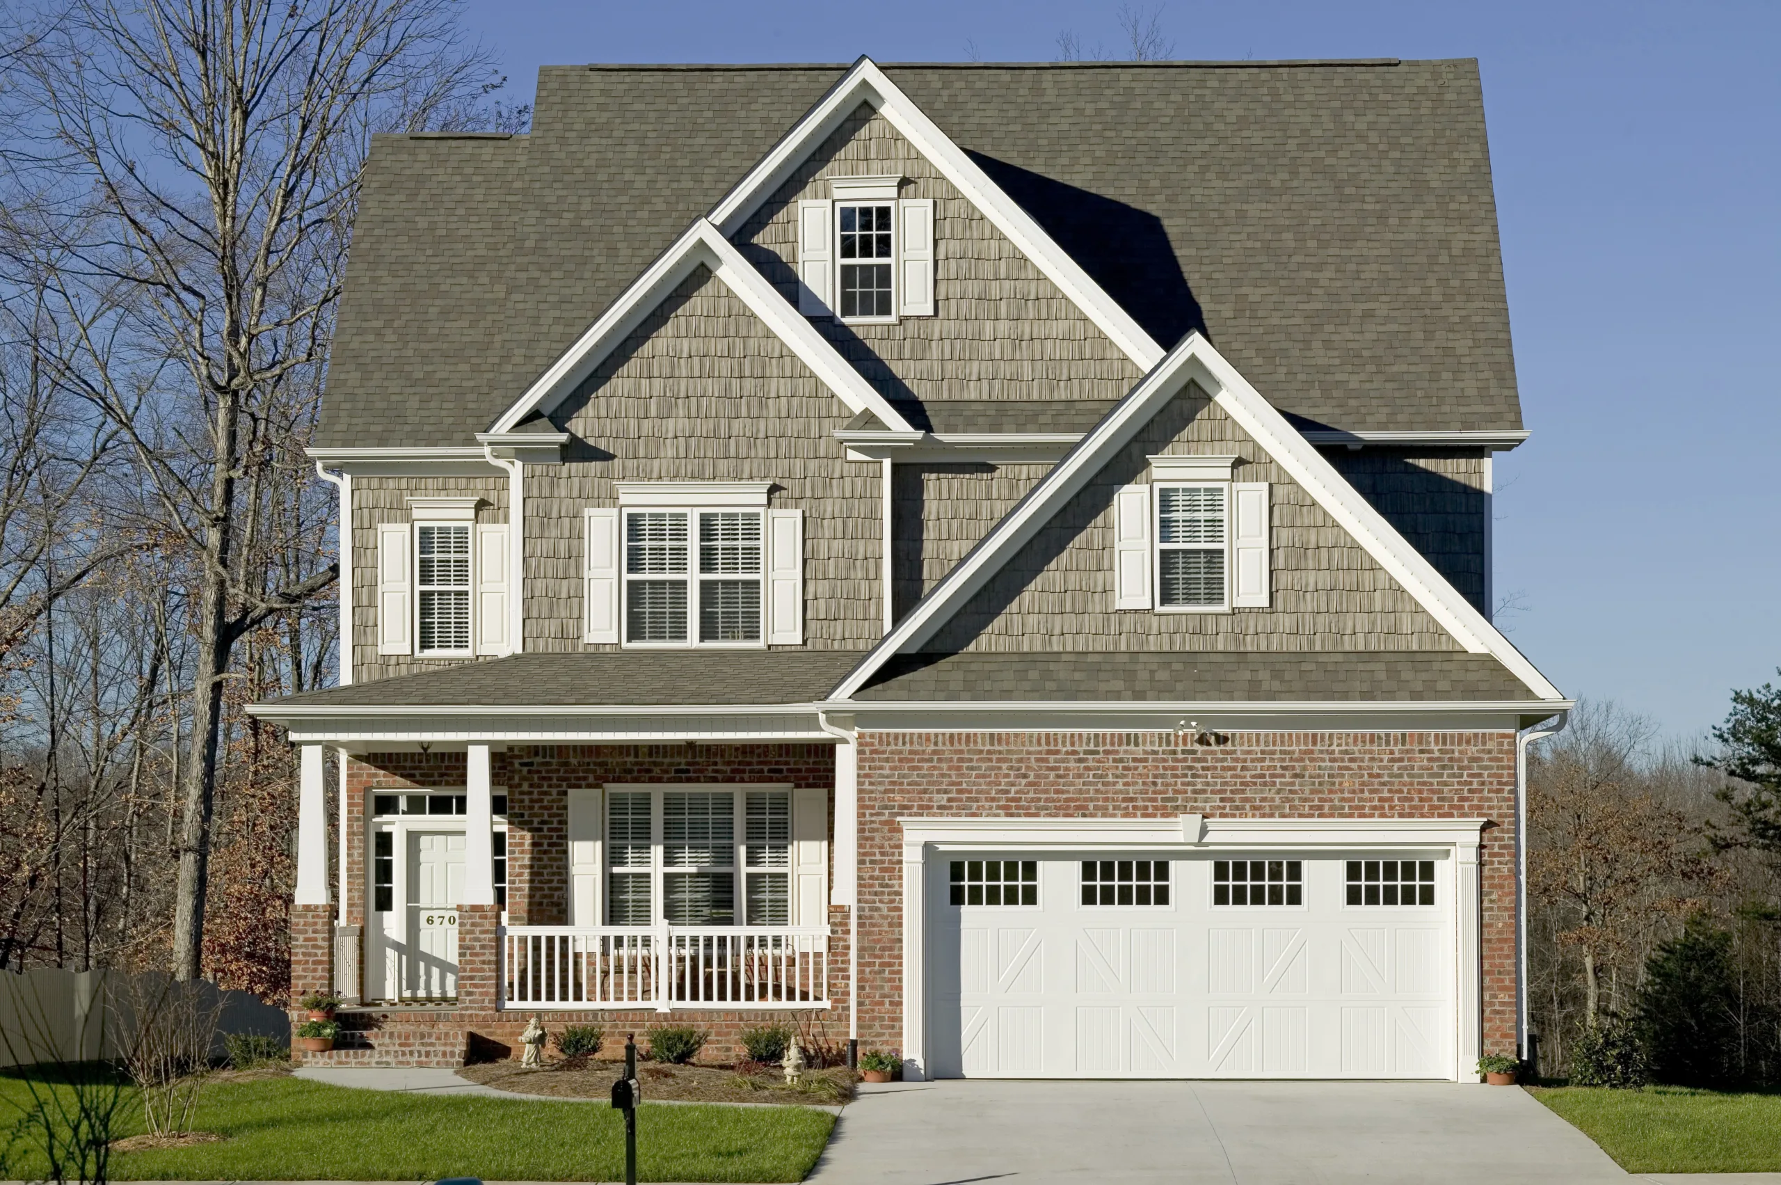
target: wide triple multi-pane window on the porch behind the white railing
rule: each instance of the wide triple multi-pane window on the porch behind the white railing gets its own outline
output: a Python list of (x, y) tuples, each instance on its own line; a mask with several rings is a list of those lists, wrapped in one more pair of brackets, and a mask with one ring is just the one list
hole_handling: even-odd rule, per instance
[(789, 791), (613, 791), (606, 843), (609, 925), (791, 923)]

